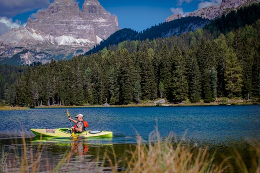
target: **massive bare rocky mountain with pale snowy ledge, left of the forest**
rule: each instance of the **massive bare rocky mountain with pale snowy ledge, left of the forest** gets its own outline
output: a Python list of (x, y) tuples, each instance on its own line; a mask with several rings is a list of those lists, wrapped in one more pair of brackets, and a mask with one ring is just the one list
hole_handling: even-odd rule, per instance
[(85, 0), (82, 10), (74, 0), (54, 0), (35, 19), (29, 18), (25, 27), (0, 36), (0, 62), (14, 56), (22, 64), (70, 58), (119, 29), (117, 16), (106, 11), (98, 0)]

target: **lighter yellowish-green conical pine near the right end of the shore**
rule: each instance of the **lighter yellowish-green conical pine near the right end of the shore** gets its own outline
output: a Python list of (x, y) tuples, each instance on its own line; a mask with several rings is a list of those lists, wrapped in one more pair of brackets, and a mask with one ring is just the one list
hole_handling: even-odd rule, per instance
[(226, 90), (229, 97), (239, 96), (242, 91), (242, 69), (238, 63), (238, 59), (232, 48), (226, 55), (226, 71), (225, 82)]

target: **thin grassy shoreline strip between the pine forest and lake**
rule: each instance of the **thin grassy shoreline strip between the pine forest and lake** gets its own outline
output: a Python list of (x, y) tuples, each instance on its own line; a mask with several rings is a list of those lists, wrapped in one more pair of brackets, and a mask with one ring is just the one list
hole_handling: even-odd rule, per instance
[(86, 106), (60, 106), (60, 105), (51, 105), (51, 106), (37, 106), (34, 108), (29, 107), (20, 107), (20, 106), (0, 106), (0, 111), (10, 111), (10, 110), (30, 110), (30, 109), (48, 109), (48, 108), (106, 108), (106, 107), (174, 107), (174, 106), (230, 106), (230, 105), (260, 105), (260, 103), (253, 104), (252, 102), (229, 102), (227, 104), (220, 104), (218, 102), (212, 103), (168, 103), (162, 104), (161, 106), (156, 106), (156, 104), (128, 104), (128, 105), (86, 105)]

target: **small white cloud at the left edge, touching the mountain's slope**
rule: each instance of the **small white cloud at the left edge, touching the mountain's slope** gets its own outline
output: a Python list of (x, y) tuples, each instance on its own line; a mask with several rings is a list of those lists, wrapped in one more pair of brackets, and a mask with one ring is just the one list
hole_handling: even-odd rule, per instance
[(16, 20), (12, 21), (12, 19), (8, 19), (7, 17), (0, 17), (0, 35), (6, 33), (12, 28), (19, 28), (21, 25), (21, 22)]

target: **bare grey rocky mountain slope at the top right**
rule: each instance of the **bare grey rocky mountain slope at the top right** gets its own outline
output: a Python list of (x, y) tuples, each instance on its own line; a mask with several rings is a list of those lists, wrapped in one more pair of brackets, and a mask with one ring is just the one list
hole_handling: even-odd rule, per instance
[[(205, 8), (198, 9), (194, 12), (188, 13), (186, 16), (199, 16), (207, 19), (215, 19), (227, 14), (232, 10), (237, 10), (243, 6), (248, 6), (254, 2), (260, 2), (260, 0), (222, 0), (220, 5), (211, 5)], [(165, 21), (169, 22), (180, 18), (181, 14), (173, 14), (169, 16)]]

